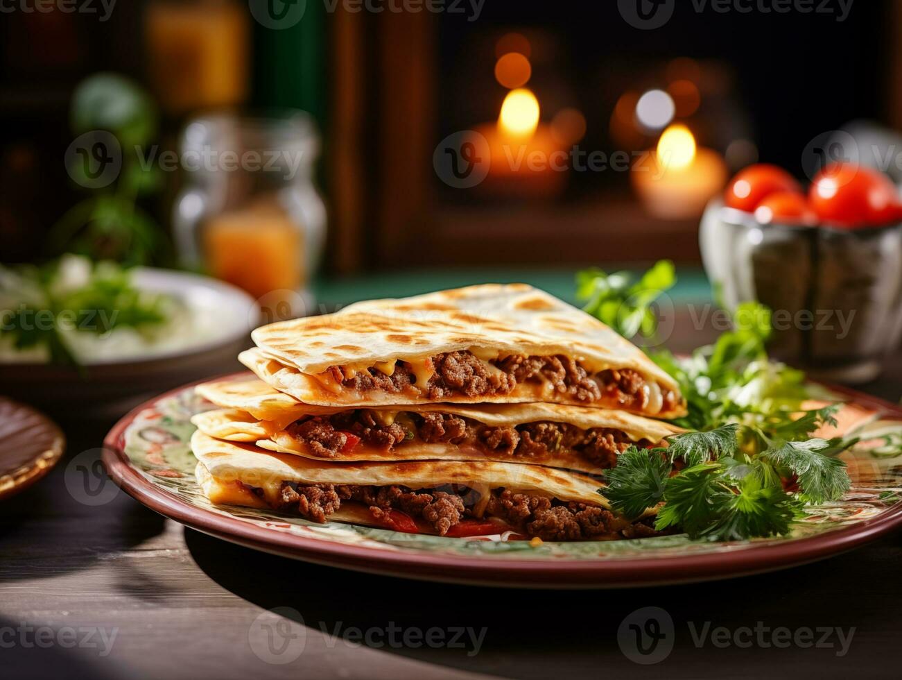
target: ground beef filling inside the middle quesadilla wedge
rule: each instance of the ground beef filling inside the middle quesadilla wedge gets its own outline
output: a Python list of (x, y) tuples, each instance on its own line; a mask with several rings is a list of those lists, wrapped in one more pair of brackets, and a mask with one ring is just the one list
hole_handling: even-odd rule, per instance
[(444, 413), (408, 413), (404, 425), (381, 424), (377, 418), (378, 413), (370, 409), (316, 416), (291, 424), (288, 433), (320, 458), (338, 457), (350, 445), (349, 435), (385, 451), (419, 437), (426, 443), (466, 444), (485, 453), (532, 461), (576, 454), (602, 469), (612, 468), (618, 454), (631, 443), (629, 436), (619, 430), (604, 427), (582, 430), (575, 425), (549, 421), (492, 427)]

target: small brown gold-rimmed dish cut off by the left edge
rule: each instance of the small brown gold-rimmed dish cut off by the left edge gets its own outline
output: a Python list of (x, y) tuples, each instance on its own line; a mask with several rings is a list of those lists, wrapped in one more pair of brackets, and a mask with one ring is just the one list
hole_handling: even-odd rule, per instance
[(0, 396), (0, 498), (40, 480), (62, 455), (65, 440), (46, 415)]

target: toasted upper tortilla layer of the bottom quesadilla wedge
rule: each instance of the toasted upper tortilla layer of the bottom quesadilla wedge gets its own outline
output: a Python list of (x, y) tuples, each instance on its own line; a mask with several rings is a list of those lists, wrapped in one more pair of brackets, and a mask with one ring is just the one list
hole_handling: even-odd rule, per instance
[[(268, 452), (252, 444), (226, 442), (199, 430), (191, 449), (204, 467), (198, 483), (213, 503), (245, 498), (248, 488), (262, 489), (259, 501), (278, 503), (282, 482), (297, 484), (400, 485), (430, 489), (447, 484), (471, 489), (515, 489), (528, 493), (609, 508), (591, 477), (567, 470), (494, 461), (344, 462), (314, 461), (301, 456)], [(240, 482), (241, 484), (236, 484)], [(242, 486), (244, 485), (244, 486)], [(239, 502), (238, 505), (248, 505)], [(253, 507), (261, 507), (259, 503)]]

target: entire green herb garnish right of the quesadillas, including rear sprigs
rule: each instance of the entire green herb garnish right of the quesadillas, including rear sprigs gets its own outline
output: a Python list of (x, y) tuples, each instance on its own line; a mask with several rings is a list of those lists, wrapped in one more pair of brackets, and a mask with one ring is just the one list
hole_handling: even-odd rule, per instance
[[(659, 262), (640, 278), (640, 298), (639, 284), (622, 273), (586, 270), (577, 281), (581, 297), (594, 295), (586, 311), (630, 338), (635, 324), (621, 320), (640, 316), (639, 330), (650, 337), (652, 303), (676, 277), (673, 265)], [(658, 295), (649, 288), (656, 282)], [(692, 538), (721, 541), (779, 536), (804, 517), (806, 503), (837, 500), (849, 490), (845, 463), (836, 456), (857, 440), (811, 436), (836, 424), (840, 406), (802, 408), (805, 375), (768, 357), (767, 307), (742, 303), (732, 321), (732, 331), (689, 357), (651, 355), (686, 397), (688, 414), (672, 422), (690, 432), (668, 437), (667, 448), (630, 447), (605, 472), (607, 486), (599, 493), (624, 516), (658, 507), (658, 530), (676, 527)]]

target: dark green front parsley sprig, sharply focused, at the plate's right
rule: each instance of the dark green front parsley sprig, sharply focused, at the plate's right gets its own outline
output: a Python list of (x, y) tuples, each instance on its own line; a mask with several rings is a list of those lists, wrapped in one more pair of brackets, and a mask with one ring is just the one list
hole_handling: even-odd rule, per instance
[(630, 519), (658, 508), (659, 531), (739, 540), (786, 534), (805, 503), (837, 500), (849, 490), (845, 463), (833, 456), (854, 440), (782, 442), (750, 455), (741, 452), (738, 432), (727, 424), (670, 437), (666, 448), (630, 447), (598, 491)]

